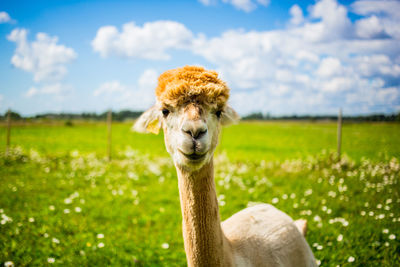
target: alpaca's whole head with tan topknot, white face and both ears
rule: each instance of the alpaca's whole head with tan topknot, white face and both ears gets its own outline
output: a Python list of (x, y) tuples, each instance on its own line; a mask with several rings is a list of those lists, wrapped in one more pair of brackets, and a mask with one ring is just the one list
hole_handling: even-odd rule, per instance
[(229, 88), (216, 72), (201, 67), (164, 72), (158, 78), (156, 97), (156, 104), (140, 116), (134, 130), (157, 134), (162, 128), (175, 165), (188, 171), (211, 160), (221, 126), (239, 119), (226, 103)]

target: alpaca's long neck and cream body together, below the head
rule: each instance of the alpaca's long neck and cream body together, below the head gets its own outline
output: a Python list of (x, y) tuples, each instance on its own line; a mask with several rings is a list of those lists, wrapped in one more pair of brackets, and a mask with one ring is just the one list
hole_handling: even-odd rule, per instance
[(315, 266), (296, 223), (269, 204), (220, 223), (213, 160), (191, 173), (177, 167), (188, 266)]

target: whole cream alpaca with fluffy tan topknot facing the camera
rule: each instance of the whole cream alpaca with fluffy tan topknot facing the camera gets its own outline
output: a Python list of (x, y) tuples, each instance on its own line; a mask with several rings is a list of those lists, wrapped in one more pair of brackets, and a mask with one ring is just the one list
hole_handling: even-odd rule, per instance
[(133, 129), (158, 133), (178, 176), (188, 266), (315, 266), (304, 234), (269, 204), (246, 208), (221, 223), (213, 155), (222, 125), (239, 119), (227, 105), (229, 88), (214, 71), (185, 66), (160, 75), (156, 104)]

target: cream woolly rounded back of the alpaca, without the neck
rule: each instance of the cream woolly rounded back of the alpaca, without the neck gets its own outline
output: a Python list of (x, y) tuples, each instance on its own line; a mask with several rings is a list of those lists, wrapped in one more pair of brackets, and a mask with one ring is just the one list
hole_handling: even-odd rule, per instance
[(222, 222), (234, 266), (316, 266), (294, 221), (269, 204), (258, 204)]

